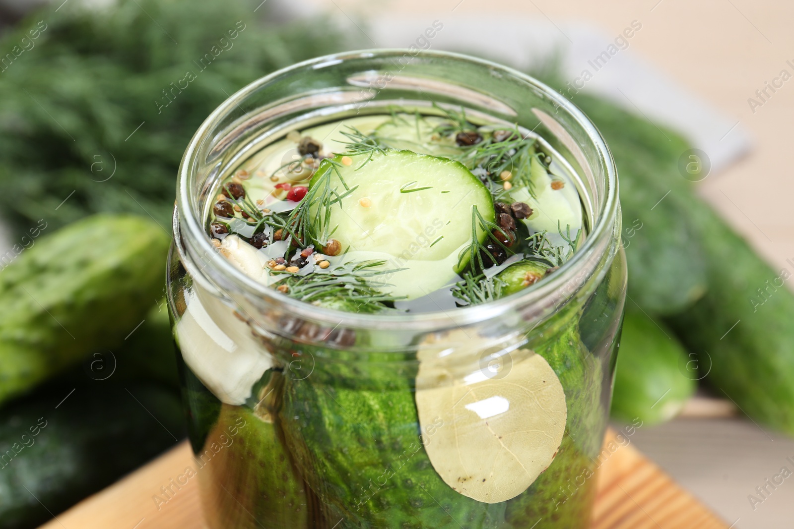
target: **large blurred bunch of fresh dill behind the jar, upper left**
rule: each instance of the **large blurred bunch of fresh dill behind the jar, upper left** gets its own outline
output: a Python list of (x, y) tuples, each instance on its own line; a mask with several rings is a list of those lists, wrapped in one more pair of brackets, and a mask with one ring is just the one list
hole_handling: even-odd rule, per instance
[[(43, 7), (0, 39), (7, 52), (48, 25), (0, 75), (0, 213), (15, 231), (44, 211), (52, 229), (98, 212), (168, 229), (179, 161), (206, 116), (253, 79), (355, 38), (316, 21), (268, 24), (261, 0), (83, 3)], [(233, 47), (200, 63), (223, 36)]]

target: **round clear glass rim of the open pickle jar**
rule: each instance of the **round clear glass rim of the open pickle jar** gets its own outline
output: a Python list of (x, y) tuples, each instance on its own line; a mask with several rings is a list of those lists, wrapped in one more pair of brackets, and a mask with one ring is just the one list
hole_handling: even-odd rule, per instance
[[(510, 296), (500, 298), (495, 301), (489, 301), (480, 305), (473, 305), (468, 307), (461, 307), (453, 311), (445, 311), (443, 309), (433, 312), (417, 312), (417, 313), (396, 313), (396, 314), (361, 314), (357, 312), (340, 312), (333, 309), (326, 309), (311, 305), (305, 301), (299, 301), (295, 298), (289, 297), (280, 293), (276, 289), (264, 286), (260, 282), (256, 282), (253, 278), (238, 270), (232, 263), (229, 263), (210, 243), (210, 238), (204, 231), (204, 219), (201, 212), (196, 214), (193, 197), (191, 196), (191, 169), (195, 167), (195, 161), (198, 153), (198, 148), (202, 142), (208, 139), (210, 132), (214, 130), (215, 125), (222, 120), (230, 111), (232, 111), (238, 102), (244, 100), (250, 94), (254, 94), (257, 90), (268, 82), (278, 79), (285, 75), (291, 75), (295, 71), (301, 71), (306, 67), (328, 67), (345, 60), (352, 59), (372, 59), (374, 57), (390, 57), (390, 56), (404, 56), (410, 53), (411, 56), (425, 56), (434, 57), (438, 59), (456, 59), (466, 61), (468, 63), (479, 64), (483, 67), (488, 67), (491, 70), (503, 72), (511, 75), (522, 82), (526, 82), (529, 86), (542, 92), (545, 98), (551, 99), (555, 105), (565, 109), (576, 120), (582, 130), (588, 136), (588, 140), (592, 142), (595, 151), (598, 153), (599, 162), (603, 166), (603, 171), (606, 176), (605, 190), (603, 202), (599, 211), (593, 212), (592, 230), (588, 232), (588, 237), (584, 240), (582, 247), (576, 249), (570, 259), (563, 263), (558, 270), (553, 274), (547, 276), (538, 282), (537, 286), (530, 289), (524, 289), (518, 293), (511, 294)], [(218, 108), (214, 109), (202, 125), (195, 132), (191, 138), (190, 143), (187, 145), (183, 155), (182, 162), (179, 165), (179, 174), (177, 178), (177, 198), (174, 209), (174, 236), (175, 240), (187, 232), (189, 236), (194, 237), (198, 247), (202, 250), (203, 255), (210, 255), (207, 266), (202, 267), (206, 272), (210, 270), (217, 270), (222, 277), (231, 282), (233, 286), (244, 293), (252, 294), (254, 297), (259, 298), (260, 301), (265, 301), (274, 306), (278, 306), (286, 312), (291, 312), (296, 316), (303, 316), (313, 320), (325, 321), (330, 324), (338, 324), (340, 320), (345, 321), (345, 325), (360, 328), (403, 328), (405, 325), (410, 324), (412, 328), (422, 328), (425, 330), (449, 328), (450, 320), (457, 326), (464, 326), (467, 324), (476, 324), (486, 320), (497, 319), (509, 312), (513, 312), (518, 308), (526, 307), (527, 305), (549, 305), (548, 301), (555, 297), (555, 294), (563, 291), (564, 286), (572, 282), (576, 277), (588, 268), (589, 265), (595, 269), (593, 259), (588, 259), (588, 255), (592, 256), (595, 252), (603, 254), (607, 249), (606, 240), (614, 235), (615, 220), (619, 214), (619, 184), (617, 178), (617, 169), (615, 161), (612, 158), (611, 152), (607, 147), (603, 136), (592, 121), (578, 108), (573, 105), (563, 95), (553, 90), (550, 86), (543, 82), (534, 79), (530, 75), (526, 75), (521, 71), (514, 68), (504, 66), (503, 64), (495, 63), (487, 59), (479, 59), (476, 57), (468, 56), (455, 52), (438, 52), (431, 50), (420, 50), (414, 53), (410, 50), (403, 48), (377, 48), (377, 49), (364, 49), (352, 52), (340, 52), (327, 56), (319, 56), (314, 59), (308, 59), (300, 63), (295, 63), (289, 67), (282, 68), (274, 71), (269, 75), (265, 75), (260, 79), (256, 79), (237, 90), (229, 98), (227, 98)], [(596, 247), (598, 245), (598, 247)], [(177, 251), (183, 254), (183, 249), (179, 243), (176, 245)], [(185, 259), (187, 256), (182, 255)], [(591, 270), (592, 274), (592, 270)], [(585, 274), (589, 277), (590, 274)], [(581, 286), (581, 284), (579, 285)], [(576, 291), (569, 293), (569, 298), (572, 297)], [(567, 301), (563, 300), (563, 302)], [(560, 302), (554, 302), (553, 305), (561, 305)]]

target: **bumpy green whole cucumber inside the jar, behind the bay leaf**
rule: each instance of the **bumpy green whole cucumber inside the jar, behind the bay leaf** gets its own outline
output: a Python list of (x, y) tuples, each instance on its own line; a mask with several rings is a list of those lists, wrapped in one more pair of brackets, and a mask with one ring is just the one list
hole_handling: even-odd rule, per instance
[(545, 338), (530, 344), (565, 389), (568, 435), (529, 489), (497, 504), (457, 493), (434, 470), (419, 437), (417, 368), (410, 355), (403, 361), (340, 362), (341, 351), (314, 350), (313, 374), (285, 381), (279, 419), (288, 450), (318, 493), (326, 520), (349, 528), (518, 529), (542, 518), (538, 527), (561, 527), (555, 525), (561, 521), (572, 529), (585, 527), (595, 480), (567, 502), (561, 490), (595, 458), (604, 419), (602, 370), (579, 339), (577, 315), (568, 311), (549, 322), (540, 329)]

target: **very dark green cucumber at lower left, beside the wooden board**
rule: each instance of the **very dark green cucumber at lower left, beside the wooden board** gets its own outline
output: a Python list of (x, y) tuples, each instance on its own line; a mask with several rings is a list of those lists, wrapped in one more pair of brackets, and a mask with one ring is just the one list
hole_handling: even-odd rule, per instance
[(0, 529), (37, 527), (183, 435), (179, 397), (152, 385), (89, 381), (14, 401), (0, 410)]

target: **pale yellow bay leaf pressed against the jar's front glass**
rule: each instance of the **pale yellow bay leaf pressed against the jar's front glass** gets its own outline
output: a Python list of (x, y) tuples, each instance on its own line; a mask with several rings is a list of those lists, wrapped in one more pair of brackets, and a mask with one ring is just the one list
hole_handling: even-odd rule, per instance
[[(417, 376), (422, 443), (433, 468), (452, 489), (488, 504), (518, 496), (549, 467), (568, 416), (545, 358), (527, 350), (509, 356), (497, 376), (486, 366), (482, 376), (445, 377), (438, 362), (420, 362)], [(429, 384), (434, 379), (441, 384)]]

